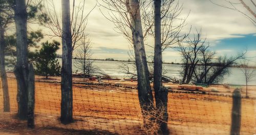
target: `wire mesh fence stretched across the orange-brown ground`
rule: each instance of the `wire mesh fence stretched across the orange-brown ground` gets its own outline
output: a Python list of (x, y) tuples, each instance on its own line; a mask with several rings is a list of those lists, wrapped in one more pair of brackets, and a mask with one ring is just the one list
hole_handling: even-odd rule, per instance
[[(59, 120), (60, 77), (45, 80), (36, 76), (36, 128), (33, 133), (42, 133), (42, 131), (54, 133), (53, 129), (58, 129), (72, 133), (90, 131), (86, 134), (145, 134), (141, 128), (143, 120), (135, 85), (125, 83), (120, 85), (111, 81), (104, 81), (101, 84), (92, 81), (83, 82), (79, 78), (73, 80), (74, 122), (64, 125)], [(17, 84), (12, 73), (8, 73), (8, 85), (10, 113), (3, 112), (3, 89), (0, 88), (0, 134), (20, 132), (17, 125), (26, 127), (26, 122), (19, 121), (15, 116)], [(175, 91), (174, 88), (168, 93), (170, 134), (229, 134), (232, 108), (230, 95), (181, 92)], [(241, 134), (256, 133), (255, 99), (242, 99), (241, 118)]]

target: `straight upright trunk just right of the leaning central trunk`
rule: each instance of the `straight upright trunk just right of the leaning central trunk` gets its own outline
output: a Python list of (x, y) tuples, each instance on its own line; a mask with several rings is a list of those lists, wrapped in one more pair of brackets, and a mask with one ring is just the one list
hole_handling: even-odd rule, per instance
[[(156, 107), (163, 116), (161, 120), (158, 120), (160, 124), (160, 130), (163, 134), (168, 134), (167, 121), (164, 119), (164, 115), (167, 115), (167, 94), (168, 91), (163, 92), (162, 86), (162, 44), (161, 44), (161, 0), (154, 1), (155, 6), (155, 54), (154, 54), (154, 89), (155, 89), (155, 100)], [(165, 109), (166, 108), (166, 109)]]

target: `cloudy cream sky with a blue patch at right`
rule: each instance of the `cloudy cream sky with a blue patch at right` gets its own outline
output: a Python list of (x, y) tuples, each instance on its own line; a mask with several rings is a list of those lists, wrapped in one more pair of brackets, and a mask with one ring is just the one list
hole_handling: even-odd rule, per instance
[[(221, 5), (227, 5), (223, 0), (212, 0)], [(57, 0), (57, 9), (60, 9), (61, 1)], [(237, 0), (233, 0), (237, 2)], [(249, 3), (249, 0), (245, 0)], [(179, 0), (183, 4), (181, 17), (188, 15), (184, 33), (190, 34), (202, 29), (203, 38), (207, 38), (210, 49), (217, 52), (218, 56), (235, 56), (247, 49), (247, 57), (256, 63), (256, 26), (239, 12), (222, 8), (212, 4), (209, 0)], [(86, 12), (88, 13), (96, 4), (95, 0), (86, 1)], [(238, 8), (248, 13), (242, 5)], [(96, 6), (88, 18), (87, 33), (90, 34), (93, 57), (98, 59), (114, 58), (127, 60), (130, 44), (122, 34), (117, 33), (113, 22), (106, 19), (101, 11), (106, 14), (109, 11)], [(255, 11), (256, 9), (254, 9)], [(59, 11), (60, 12), (60, 11)], [(249, 14), (249, 13), (248, 13)], [(154, 40), (150, 40), (154, 43)], [(145, 47), (147, 55), (153, 53), (153, 49)], [(61, 54), (61, 50), (58, 51)], [(254, 57), (254, 58), (253, 58)], [(179, 52), (167, 49), (163, 52), (164, 62), (180, 62)]]

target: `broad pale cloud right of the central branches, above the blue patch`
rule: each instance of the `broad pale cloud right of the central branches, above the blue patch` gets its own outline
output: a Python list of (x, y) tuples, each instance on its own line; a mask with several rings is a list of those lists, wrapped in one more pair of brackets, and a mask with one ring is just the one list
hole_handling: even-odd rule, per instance
[[(226, 3), (216, 0), (214, 2)], [(188, 3), (185, 0), (180, 0), (180, 3), (183, 3), (185, 13), (190, 10), (187, 27), (202, 28), (204, 36), (210, 41), (233, 38), (237, 37), (234, 34), (249, 34), (256, 31), (256, 27), (241, 13), (219, 7), (210, 1), (192, 0)]]

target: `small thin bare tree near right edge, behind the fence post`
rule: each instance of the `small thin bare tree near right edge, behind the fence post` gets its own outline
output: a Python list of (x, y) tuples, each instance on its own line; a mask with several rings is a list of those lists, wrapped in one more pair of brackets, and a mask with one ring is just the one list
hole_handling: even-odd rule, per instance
[(248, 60), (243, 60), (241, 62), (240, 68), (244, 74), (245, 77), (245, 83), (246, 83), (246, 98), (248, 98), (248, 82), (254, 81), (254, 78), (256, 73), (255, 73), (255, 68), (254, 67), (249, 67), (249, 61)]

